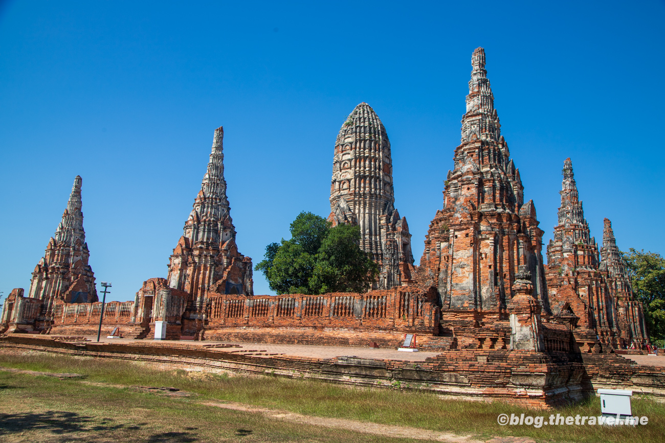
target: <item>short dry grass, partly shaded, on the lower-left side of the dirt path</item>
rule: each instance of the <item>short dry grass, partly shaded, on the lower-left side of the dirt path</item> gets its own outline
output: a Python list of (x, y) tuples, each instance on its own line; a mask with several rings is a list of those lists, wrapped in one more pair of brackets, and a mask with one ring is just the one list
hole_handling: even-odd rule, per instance
[(0, 371), (3, 442), (398, 442), (134, 393)]

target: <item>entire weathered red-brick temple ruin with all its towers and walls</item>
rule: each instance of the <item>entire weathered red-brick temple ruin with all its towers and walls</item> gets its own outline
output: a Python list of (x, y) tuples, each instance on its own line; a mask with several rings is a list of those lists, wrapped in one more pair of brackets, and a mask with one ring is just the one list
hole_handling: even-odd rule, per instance
[[(420, 349), (439, 353), (417, 369), (331, 364), (341, 365), (340, 373), (366, 377), (362, 383), (406, 377), (439, 392), (538, 404), (580, 399), (608, 386), (665, 395), (662, 369), (636, 369), (614, 351), (632, 344), (641, 349), (648, 335), (610, 221), (604, 221), (599, 251), (566, 159), (559, 224), (543, 262), (544, 232), (501, 135), (482, 48), (473, 52), (471, 66), (461, 143), (420, 266), (413, 264), (406, 218), (394, 208), (386, 129), (361, 103), (334, 146), (329, 221), (360, 226), (360, 247), (376, 260), (378, 281), (365, 294), (254, 295), (251, 258), (236, 244), (218, 128), (168, 276), (146, 280), (133, 301), (106, 304), (104, 333), (118, 327), (125, 337), (151, 339), (159, 336), (156, 327), (164, 327), (170, 340), (393, 349), (414, 333)], [(102, 304), (88, 265), (80, 187), (76, 177), (29, 294), (11, 292), (0, 332), (96, 333)], [(326, 371), (311, 361), (311, 367), (282, 364)]]

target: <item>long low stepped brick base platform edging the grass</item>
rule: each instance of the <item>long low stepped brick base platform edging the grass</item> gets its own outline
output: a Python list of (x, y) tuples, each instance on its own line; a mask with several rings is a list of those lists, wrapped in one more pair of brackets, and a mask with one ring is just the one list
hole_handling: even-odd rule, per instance
[(148, 367), (165, 370), (229, 371), (367, 387), (421, 389), (462, 398), (503, 399), (537, 408), (582, 399), (598, 387), (621, 387), (665, 397), (665, 368), (637, 365), (614, 354), (587, 354), (571, 359), (567, 353), (456, 349), (433, 357), (400, 353), (401, 358), (356, 355), (320, 358), (270, 353), (260, 344), (247, 349), (231, 343), (126, 339), (95, 343), (81, 337), (27, 334), (0, 337), (0, 351), (140, 361)]

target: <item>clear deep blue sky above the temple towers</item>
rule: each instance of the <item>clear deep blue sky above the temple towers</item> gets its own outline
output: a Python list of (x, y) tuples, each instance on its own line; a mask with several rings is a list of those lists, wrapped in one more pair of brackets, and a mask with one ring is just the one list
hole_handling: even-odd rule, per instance
[(319, 3), (0, 3), (3, 295), (29, 288), (77, 174), (111, 299), (166, 277), (218, 126), (237, 244), (259, 262), (300, 211), (329, 214), (360, 102), (390, 137), (418, 264), (477, 46), (545, 243), (572, 157), (592, 235), (608, 217), (623, 250), (665, 252), (662, 1)]

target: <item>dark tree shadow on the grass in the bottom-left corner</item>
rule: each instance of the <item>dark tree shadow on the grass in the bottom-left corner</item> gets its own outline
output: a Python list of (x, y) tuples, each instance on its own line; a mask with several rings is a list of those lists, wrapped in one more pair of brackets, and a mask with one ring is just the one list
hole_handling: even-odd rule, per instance
[[(94, 418), (76, 414), (51, 410), (48, 412), (23, 412), (19, 414), (0, 413), (0, 440), (3, 436), (21, 432), (43, 432), (48, 434), (52, 442), (94, 442), (96, 440), (108, 441), (108, 438), (117, 431), (141, 430), (146, 423), (127, 426), (114, 423), (110, 418)], [(186, 428), (196, 430), (196, 428)], [(80, 434), (76, 434), (80, 433)], [(59, 438), (59, 436), (61, 436)], [(138, 437), (138, 435), (136, 435)], [(189, 443), (199, 440), (192, 432), (160, 432), (152, 435), (143, 434), (140, 440), (144, 442), (176, 442)]]

